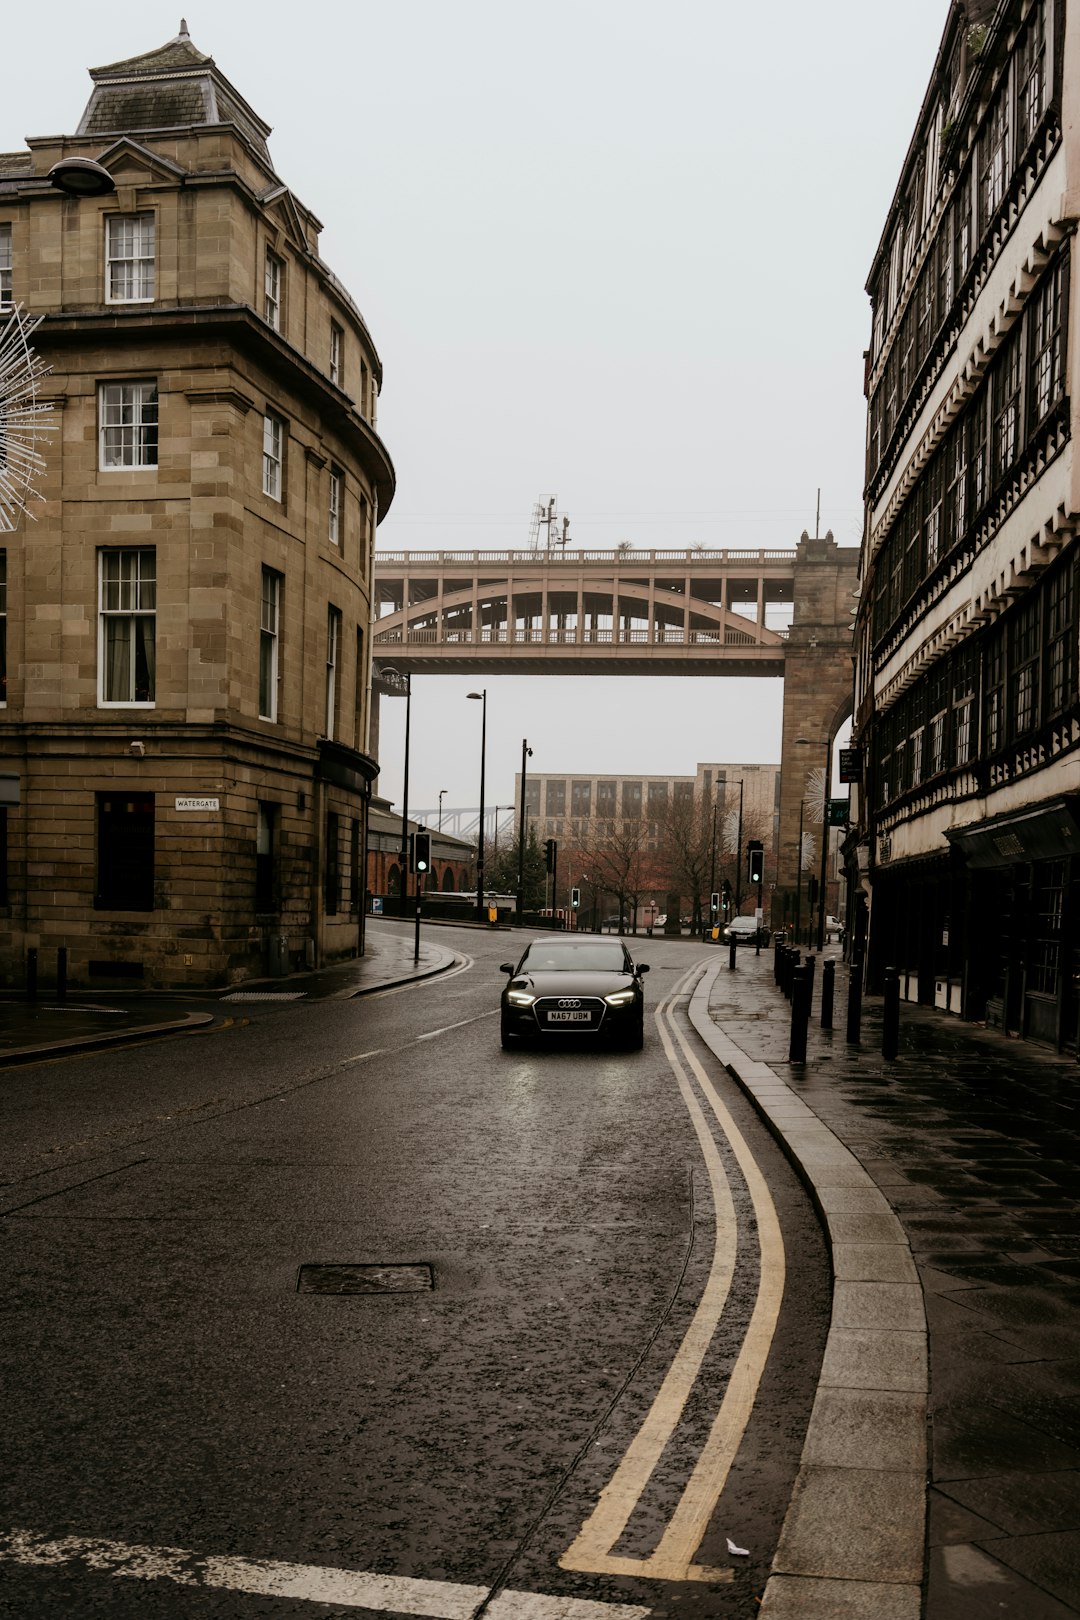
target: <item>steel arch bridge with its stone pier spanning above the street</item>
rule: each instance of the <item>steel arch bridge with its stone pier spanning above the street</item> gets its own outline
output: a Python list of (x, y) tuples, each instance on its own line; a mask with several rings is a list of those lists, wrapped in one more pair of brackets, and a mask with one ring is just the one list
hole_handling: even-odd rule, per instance
[(381, 666), (780, 677), (777, 891), (793, 889), (806, 778), (852, 713), (858, 561), (831, 533), (790, 551), (377, 551), (372, 752), (379, 692), (395, 690)]

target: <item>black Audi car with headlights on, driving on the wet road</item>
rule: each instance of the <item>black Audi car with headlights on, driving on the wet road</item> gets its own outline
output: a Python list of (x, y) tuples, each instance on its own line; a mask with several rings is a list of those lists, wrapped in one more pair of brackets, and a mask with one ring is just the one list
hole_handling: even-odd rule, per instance
[(533, 940), (521, 961), (504, 962), (502, 1045), (589, 1035), (635, 1051), (644, 1043), (641, 974), (622, 940)]

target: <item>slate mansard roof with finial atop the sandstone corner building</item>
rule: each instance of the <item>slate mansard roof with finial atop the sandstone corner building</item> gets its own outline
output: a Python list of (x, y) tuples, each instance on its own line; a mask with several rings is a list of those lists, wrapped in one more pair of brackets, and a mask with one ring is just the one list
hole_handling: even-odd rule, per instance
[(126, 62), (91, 68), (94, 91), (79, 134), (125, 134), (185, 125), (236, 125), (269, 165), (269, 123), (228, 83), (212, 57), (191, 44), (181, 19), (175, 39)]

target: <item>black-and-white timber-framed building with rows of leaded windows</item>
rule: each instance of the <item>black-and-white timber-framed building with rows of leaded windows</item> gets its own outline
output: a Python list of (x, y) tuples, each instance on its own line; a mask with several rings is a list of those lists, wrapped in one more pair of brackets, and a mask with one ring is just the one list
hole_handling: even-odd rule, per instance
[(954, 3), (870, 275), (871, 983), (1075, 1047), (1080, 5)]

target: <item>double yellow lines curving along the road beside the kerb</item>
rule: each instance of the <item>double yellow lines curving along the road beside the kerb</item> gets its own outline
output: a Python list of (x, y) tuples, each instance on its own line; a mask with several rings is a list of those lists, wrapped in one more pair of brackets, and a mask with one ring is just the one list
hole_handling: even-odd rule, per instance
[[(709, 1518), (721, 1498), (732, 1461), (753, 1411), (758, 1383), (769, 1354), (776, 1320), (784, 1298), (784, 1241), (780, 1226), (761, 1171), (730, 1113), (716, 1094), (709, 1077), (693, 1056), (688, 1042), (675, 1027), (670, 1008), (685, 995), (691, 974), (680, 980), (670, 996), (656, 1011), (656, 1025), (664, 1042), (664, 1051), (678, 1082), (687, 1111), (698, 1134), (712, 1200), (716, 1209), (716, 1241), (712, 1265), (695, 1317), (667, 1369), (667, 1375), (653, 1406), (619, 1463), (612, 1479), (604, 1487), (596, 1508), (581, 1526), (578, 1537), (559, 1560), (565, 1570), (588, 1570), (606, 1575), (636, 1575), (669, 1581), (730, 1581), (730, 1568), (708, 1568), (693, 1562)], [(669, 1027), (664, 1024), (669, 1019)], [(672, 1035), (682, 1048), (682, 1056), (693, 1072), (701, 1094), (727, 1137), (755, 1205), (759, 1234), (759, 1281), (755, 1309), (743, 1338), (742, 1349), (732, 1369), (727, 1390), (721, 1401), (709, 1437), (698, 1456), (695, 1469), (678, 1500), (667, 1529), (656, 1549), (644, 1558), (615, 1557), (612, 1547), (627, 1528), (656, 1468), (667, 1440), (678, 1424), (688, 1395), (701, 1369), (708, 1345), (721, 1320), (735, 1264), (735, 1210), (724, 1163), (712, 1132), (706, 1123), (698, 1097), (690, 1085), (687, 1068), (680, 1061)]]

